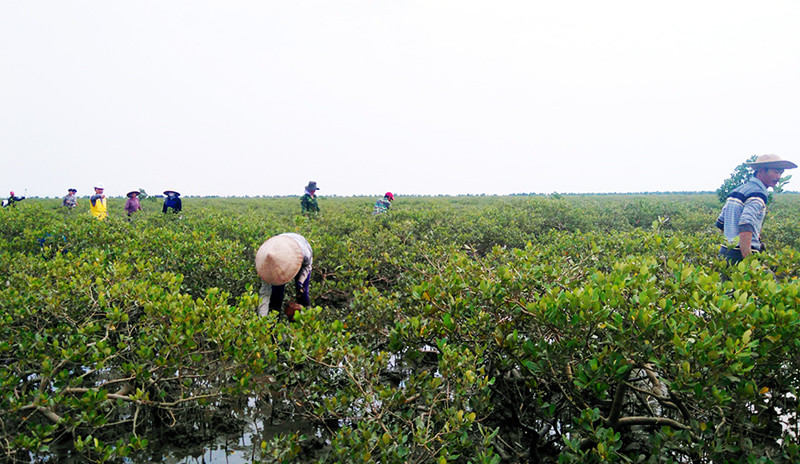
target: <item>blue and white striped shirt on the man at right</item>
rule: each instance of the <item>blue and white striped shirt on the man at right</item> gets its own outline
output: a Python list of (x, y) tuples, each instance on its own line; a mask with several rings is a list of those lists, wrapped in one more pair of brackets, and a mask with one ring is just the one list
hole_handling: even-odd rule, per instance
[(716, 226), (725, 234), (728, 243), (733, 242), (740, 232), (752, 232), (751, 246), (761, 251), (761, 227), (766, 213), (767, 186), (752, 177), (728, 195)]

